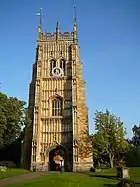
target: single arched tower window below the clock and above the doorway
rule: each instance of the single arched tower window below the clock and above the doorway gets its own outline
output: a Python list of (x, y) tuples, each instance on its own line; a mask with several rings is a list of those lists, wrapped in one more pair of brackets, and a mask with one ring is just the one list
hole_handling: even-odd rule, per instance
[(52, 100), (52, 116), (62, 116), (62, 100), (59, 98)]

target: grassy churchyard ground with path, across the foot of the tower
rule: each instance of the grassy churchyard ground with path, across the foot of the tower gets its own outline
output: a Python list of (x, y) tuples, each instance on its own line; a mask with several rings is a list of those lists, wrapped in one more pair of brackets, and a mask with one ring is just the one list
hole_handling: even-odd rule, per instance
[[(28, 174), (29, 173), (29, 174)], [(140, 182), (140, 168), (130, 168), (130, 179), (135, 182)], [(43, 186), (57, 186), (57, 187), (117, 187), (120, 178), (116, 177), (116, 169), (101, 169), (97, 172), (85, 173), (59, 173), (59, 172), (30, 172), (23, 169), (7, 169), (0, 171), (0, 186), (7, 187), (43, 187)], [(29, 177), (29, 175), (32, 177)], [(13, 176), (13, 177), (12, 177)], [(17, 181), (15, 176), (17, 176)], [(3, 178), (10, 179), (10, 182), (3, 183)], [(13, 178), (13, 180), (12, 180)], [(16, 181), (16, 182), (15, 182)], [(7, 183), (7, 185), (6, 185)], [(136, 184), (139, 187), (140, 184)], [(134, 186), (134, 187), (135, 187)]]

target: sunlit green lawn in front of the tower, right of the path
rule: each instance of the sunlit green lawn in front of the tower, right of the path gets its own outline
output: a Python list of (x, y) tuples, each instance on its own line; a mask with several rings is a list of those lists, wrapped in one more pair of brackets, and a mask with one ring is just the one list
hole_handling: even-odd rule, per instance
[(116, 187), (116, 184), (115, 180), (100, 179), (85, 174), (54, 173), (7, 187)]

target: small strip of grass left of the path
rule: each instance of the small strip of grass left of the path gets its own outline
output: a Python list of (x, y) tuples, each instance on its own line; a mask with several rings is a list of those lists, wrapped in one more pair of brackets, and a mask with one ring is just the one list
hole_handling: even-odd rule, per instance
[(0, 179), (17, 176), (17, 175), (23, 175), (29, 172), (30, 171), (25, 169), (7, 169), (6, 172), (0, 171)]

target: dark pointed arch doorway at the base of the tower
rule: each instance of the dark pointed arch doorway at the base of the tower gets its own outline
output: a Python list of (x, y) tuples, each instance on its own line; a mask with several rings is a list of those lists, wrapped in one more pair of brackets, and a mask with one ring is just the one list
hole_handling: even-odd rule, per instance
[[(68, 170), (68, 152), (67, 149), (62, 145), (52, 146), (48, 151), (49, 156), (49, 171), (58, 171), (60, 164), (62, 164), (64, 171)], [(63, 158), (62, 163), (56, 161), (57, 157)]]

